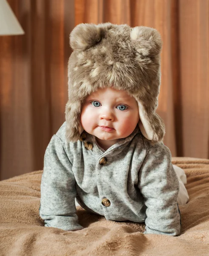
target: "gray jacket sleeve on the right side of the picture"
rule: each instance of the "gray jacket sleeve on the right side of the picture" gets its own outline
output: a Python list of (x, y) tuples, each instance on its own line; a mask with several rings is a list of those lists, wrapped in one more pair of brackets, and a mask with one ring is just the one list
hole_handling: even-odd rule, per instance
[(144, 234), (178, 235), (181, 228), (177, 204), (179, 182), (169, 148), (163, 143), (148, 150), (139, 172), (139, 189), (147, 207)]

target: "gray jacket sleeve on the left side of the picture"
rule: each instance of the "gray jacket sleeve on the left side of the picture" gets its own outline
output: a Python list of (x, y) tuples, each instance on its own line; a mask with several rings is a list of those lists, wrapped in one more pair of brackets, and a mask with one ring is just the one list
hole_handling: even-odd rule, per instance
[(75, 177), (62, 140), (54, 135), (45, 151), (40, 217), (45, 227), (80, 230), (75, 206)]

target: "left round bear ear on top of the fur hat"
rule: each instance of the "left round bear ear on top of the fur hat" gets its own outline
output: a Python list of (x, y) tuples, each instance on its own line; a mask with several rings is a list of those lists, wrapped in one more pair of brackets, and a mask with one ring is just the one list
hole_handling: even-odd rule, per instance
[(81, 23), (70, 34), (70, 45), (73, 50), (84, 51), (102, 39), (102, 29), (95, 24)]

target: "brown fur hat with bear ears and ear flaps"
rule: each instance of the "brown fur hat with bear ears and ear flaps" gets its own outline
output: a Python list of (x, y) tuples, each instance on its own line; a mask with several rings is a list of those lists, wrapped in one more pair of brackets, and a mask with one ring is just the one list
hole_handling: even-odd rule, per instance
[(144, 137), (154, 143), (162, 140), (164, 123), (155, 113), (161, 81), (159, 32), (144, 26), (82, 23), (71, 32), (70, 45), (66, 139), (76, 141), (83, 131), (80, 115), (86, 96), (112, 87), (138, 102)]

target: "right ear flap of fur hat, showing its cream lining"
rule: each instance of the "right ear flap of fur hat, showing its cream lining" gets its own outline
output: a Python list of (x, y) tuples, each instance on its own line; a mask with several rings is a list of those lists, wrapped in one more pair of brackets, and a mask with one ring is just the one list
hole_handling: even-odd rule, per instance
[(161, 117), (155, 112), (148, 115), (141, 102), (138, 102), (138, 109), (140, 117), (138, 126), (144, 137), (153, 142), (163, 140), (165, 125)]

